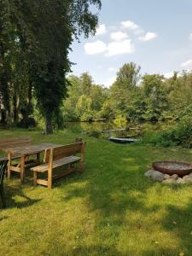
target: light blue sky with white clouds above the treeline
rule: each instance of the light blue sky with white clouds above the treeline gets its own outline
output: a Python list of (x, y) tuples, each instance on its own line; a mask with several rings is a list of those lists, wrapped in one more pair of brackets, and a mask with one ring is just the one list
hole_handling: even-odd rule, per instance
[(192, 69), (192, 0), (102, 0), (95, 36), (73, 42), (73, 74), (110, 86), (125, 63), (141, 73)]

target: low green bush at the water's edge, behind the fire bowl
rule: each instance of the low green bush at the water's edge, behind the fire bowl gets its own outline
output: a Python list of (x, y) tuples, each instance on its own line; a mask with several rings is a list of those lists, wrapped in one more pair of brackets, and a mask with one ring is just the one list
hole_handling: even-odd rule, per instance
[(143, 143), (150, 143), (154, 146), (171, 147), (182, 146), (192, 147), (192, 118), (183, 117), (177, 125), (166, 131), (146, 132)]

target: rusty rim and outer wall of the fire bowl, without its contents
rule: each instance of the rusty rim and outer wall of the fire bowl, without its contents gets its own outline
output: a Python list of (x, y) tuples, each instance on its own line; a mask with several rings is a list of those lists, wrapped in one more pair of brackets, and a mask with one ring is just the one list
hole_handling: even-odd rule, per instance
[[(186, 169), (182, 169), (182, 170), (175, 170), (175, 169), (169, 169), (169, 168), (166, 168), (165, 167), (161, 167), (161, 166), (158, 166), (158, 164), (162, 164), (162, 163), (165, 163), (165, 164), (177, 164), (177, 165), (183, 165), (183, 166), (189, 166), (190, 168), (186, 168)], [(180, 161), (156, 161), (153, 163), (153, 168), (155, 171), (159, 171), (159, 172), (162, 172), (164, 174), (169, 174), (169, 175), (172, 175), (172, 174), (177, 174), (178, 176), (183, 176), (183, 175), (187, 175), (189, 173), (192, 172), (192, 165), (189, 164), (189, 163), (184, 163), (184, 162), (180, 162)]]

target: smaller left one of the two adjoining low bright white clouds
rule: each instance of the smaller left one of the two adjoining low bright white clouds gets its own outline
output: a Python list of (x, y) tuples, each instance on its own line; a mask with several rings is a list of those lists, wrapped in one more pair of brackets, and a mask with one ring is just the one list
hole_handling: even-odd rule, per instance
[(87, 55), (96, 55), (107, 50), (107, 44), (97, 40), (93, 43), (84, 44), (84, 50)]

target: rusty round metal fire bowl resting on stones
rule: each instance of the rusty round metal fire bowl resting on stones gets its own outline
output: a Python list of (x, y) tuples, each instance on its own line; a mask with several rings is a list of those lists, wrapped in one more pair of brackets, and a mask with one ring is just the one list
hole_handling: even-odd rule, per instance
[(176, 161), (160, 161), (154, 162), (153, 168), (155, 171), (165, 174), (177, 174), (178, 176), (187, 175), (192, 172), (192, 166), (183, 162)]

